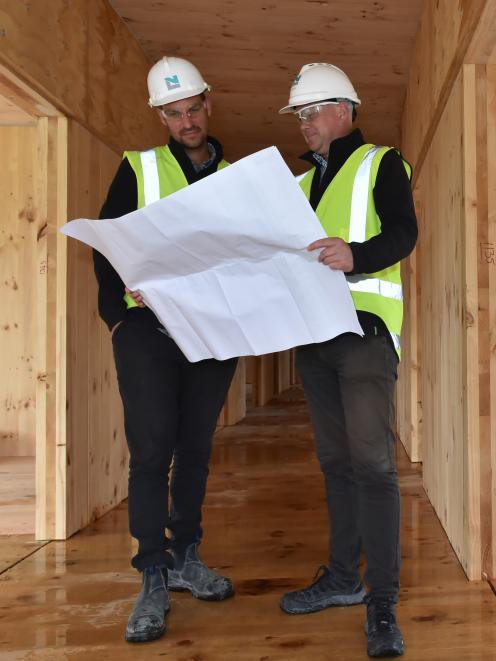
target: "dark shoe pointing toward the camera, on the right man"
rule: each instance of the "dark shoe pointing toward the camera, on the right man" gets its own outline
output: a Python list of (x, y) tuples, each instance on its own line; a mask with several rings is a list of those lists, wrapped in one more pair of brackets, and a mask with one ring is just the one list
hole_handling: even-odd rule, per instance
[(403, 654), (403, 636), (396, 624), (396, 606), (391, 599), (368, 600), (365, 633), (369, 656), (386, 657)]

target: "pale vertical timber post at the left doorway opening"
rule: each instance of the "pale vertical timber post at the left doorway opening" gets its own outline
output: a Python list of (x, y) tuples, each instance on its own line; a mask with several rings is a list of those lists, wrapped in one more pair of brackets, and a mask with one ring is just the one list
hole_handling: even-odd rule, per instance
[[(36, 538), (66, 537), (67, 120), (38, 121)], [(34, 311), (33, 311), (34, 313)]]

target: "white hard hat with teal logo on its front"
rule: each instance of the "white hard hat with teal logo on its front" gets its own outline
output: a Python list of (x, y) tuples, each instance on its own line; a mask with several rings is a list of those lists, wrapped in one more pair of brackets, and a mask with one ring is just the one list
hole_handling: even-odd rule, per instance
[(182, 57), (163, 57), (148, 72), (147, 82), (152, 108), (210, 91), (195, 65)]

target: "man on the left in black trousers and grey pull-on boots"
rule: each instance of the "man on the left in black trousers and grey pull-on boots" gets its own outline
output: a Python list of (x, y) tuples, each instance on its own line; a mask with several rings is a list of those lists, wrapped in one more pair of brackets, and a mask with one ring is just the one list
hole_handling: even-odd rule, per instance
[[(227, 165), (208, 135), (210, 88), (193, 64), (163, 57), (150, 69), (148, 91), (169, 143), (124, 153), (101, 218), (135, 211)], [(132, 565), (142, 573), (125, 637), (145, 642), (165, 631), (168, 589), (211, 601), (234, 594), (230, 579), (209, 569), (197, 547), (212, 436), (236, 359), (188, 362), (140, 293), (126, 290), (96, 251), (94, 264), (130, 452), (129, 528), (138, 540)]]

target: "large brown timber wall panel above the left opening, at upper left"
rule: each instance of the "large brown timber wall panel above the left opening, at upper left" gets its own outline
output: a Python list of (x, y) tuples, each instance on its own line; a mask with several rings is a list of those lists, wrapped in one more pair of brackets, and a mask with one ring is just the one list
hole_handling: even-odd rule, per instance
[(3, 0), (0, 28), (0, 64), (116, 152), (163, 140), (149, 62), (106, 0)]

